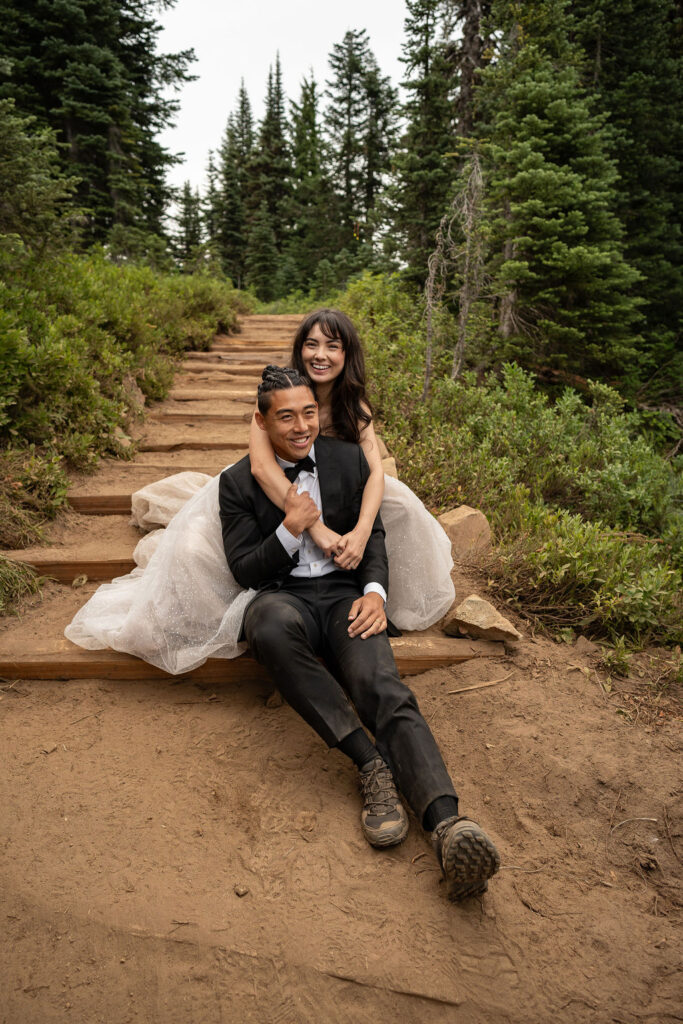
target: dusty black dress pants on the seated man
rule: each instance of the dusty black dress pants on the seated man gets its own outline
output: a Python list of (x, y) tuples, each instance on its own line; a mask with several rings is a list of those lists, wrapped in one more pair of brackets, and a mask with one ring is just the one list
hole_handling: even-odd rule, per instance
[(345, 572), (289, 577), (281, 590), (254, 598), (244, 635), (287, 702), (329, 746), (366, 726), (422, 821), (433, 800), (456, 791), (413, 692), (400, 681), (386, 632), (366, 640), (348, 635), (349, 610), (359, 596)]

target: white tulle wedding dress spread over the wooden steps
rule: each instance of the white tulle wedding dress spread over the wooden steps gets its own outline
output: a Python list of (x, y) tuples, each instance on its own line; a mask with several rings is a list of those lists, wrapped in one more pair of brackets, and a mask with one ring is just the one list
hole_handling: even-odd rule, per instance
[[(225, 561), (218, 476), (177, 473), (136, 492), (133, 521), (154, 529), (133, 557), (137, 567), (103, 584), (65, 636), (88, 650), (112, 647), (174, 675), (208, 657), (237, 657), (245, 609), (254, 597)], [(381, 507), (389, 560), (387, 614), (401, 630), (422, 630), (455, 597), (451, 542), (420, 499), (385, 477)], [(168, 524), (168, 525), (167, 525)]]

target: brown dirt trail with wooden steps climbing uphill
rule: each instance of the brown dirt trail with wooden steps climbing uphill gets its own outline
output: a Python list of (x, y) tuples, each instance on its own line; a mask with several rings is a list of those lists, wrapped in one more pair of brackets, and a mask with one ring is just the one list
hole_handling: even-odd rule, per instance
[[(189, 353), (135, 460), (75, 477), (50, 546), (20, 553), (61, 582), (0, 621), (0, 1024), (680, 1020), (678, 723), (617, 714), (628, 682), (605, 692), (595, 645), (474, 645), (411, 679), (502, 853), (488, 894), (454, 906), (417, 822), (397, 849), (365, 843), (354, 770), (253, 663), (162, 677), (60, 639), (132, 565), (131, 493), (244, 454), (298, 319)], [(408, 643), (412, 674), (420, 649), (469, 642)]]

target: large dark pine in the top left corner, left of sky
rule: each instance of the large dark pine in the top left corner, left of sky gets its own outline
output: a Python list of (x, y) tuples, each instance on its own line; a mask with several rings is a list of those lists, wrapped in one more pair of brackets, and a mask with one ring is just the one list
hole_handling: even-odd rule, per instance
[(193, 54), (156, 52), (154, 11), (153, 0), (0, 0), (0, 96), (57, 133), (89, 240), (115, 226), (162, 230), (174, 158), (157, 135), (177, 108), (163, 90), (187, 80)]

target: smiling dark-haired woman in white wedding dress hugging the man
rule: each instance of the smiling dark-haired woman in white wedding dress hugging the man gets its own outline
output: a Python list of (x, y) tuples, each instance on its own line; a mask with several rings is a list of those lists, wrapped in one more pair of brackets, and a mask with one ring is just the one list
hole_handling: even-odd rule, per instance
[[(337, 310), (311, 313), (297, 331), (292, 362), (312, 382), (321, 431), (359, 442), (371, 467), (355, 527), (340, 537), (318, 522), (311, 539), (326, 553), (334, 552), (341, 568), (352, 569), (381, 504), (389, 559), (387, 614), (401, 629), (425, 629), (453, 603), (451, 544), (409, 487), (384, 478), (353, 325)], [(290, 483), (254, 423), (250, 459), (263, 490), (284, 508)], [(254, 592), (243, 591), (225, 563), (219, 477), (206, 477), (198, 490), (202, 479), (203, 474), (178, 474), (133, 496), (138, 524), (168, 526), (138, 544), (132, 573), (98, 588), (65, 631), (70, 640), (91, 650), (134, 654), (173, 674), (189, 672), (207, 657), (242, 653), (242, 618)]]

